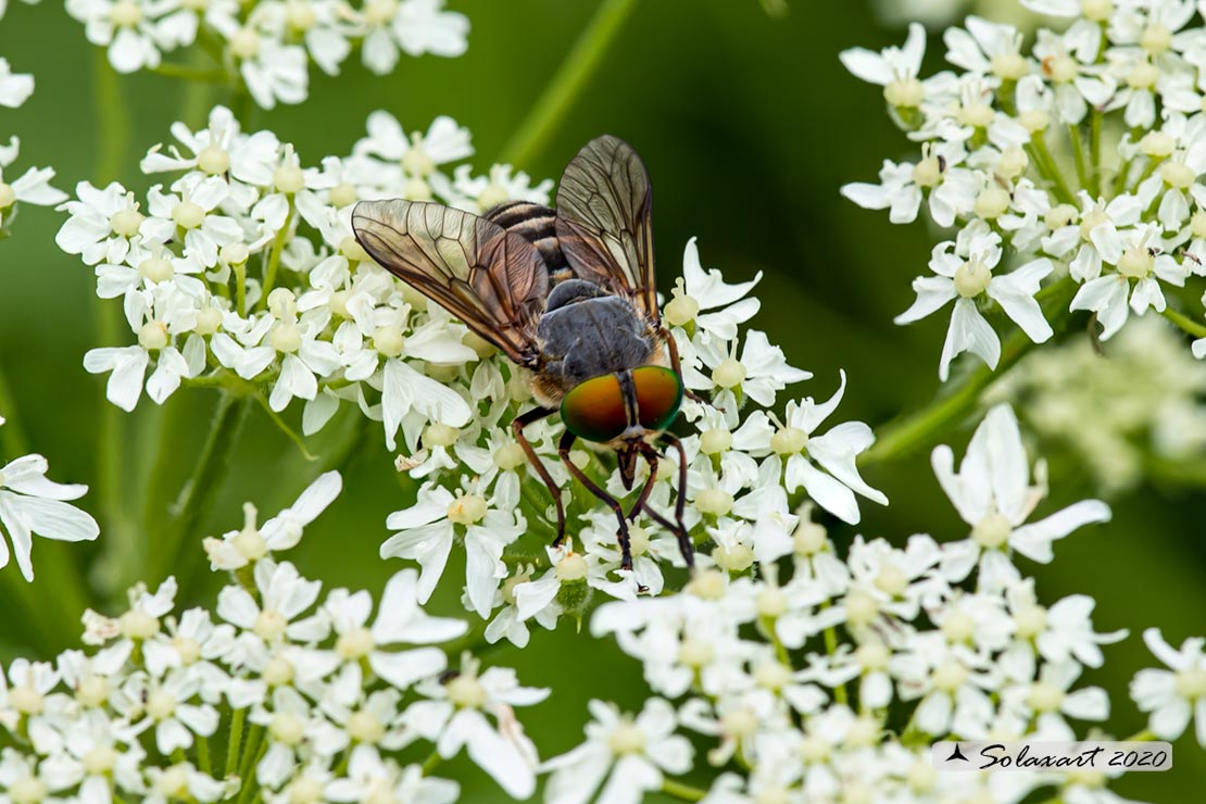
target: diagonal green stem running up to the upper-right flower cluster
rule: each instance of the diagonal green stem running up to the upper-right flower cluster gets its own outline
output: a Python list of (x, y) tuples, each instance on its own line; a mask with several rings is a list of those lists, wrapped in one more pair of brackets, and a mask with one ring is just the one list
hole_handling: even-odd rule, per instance
[[(1043, 288), (1035, 297), (1043, 305), (1047, 319), (1056, 330), (1067, 319), (1067, 303), (1072, 298), (1075, 288), (1076, 284), (1072, 280), (1065, 277)], [(915, 413), (880, 428), (876, 435), (876, 444), (859, 456), (859, 465), (894, 460), (931, 445), (936, 438), (947, 433), (950, 424), (976, 407), (984, 388), (1035, 346), (1036, 344), (1025, 333), (1020, 330), (1013, 333), (1001, 348), (1001, 360), (995, 370), (987, 365), (977, 368), (949, 393), (939, 395)]]

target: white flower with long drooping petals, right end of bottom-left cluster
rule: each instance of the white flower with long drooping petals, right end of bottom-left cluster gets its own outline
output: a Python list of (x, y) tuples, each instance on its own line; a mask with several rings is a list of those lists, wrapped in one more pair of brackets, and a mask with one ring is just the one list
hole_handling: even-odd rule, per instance
[[(478, 662), (464, 655), (458, 674), (445, 683), (421, 685), (420, 692), (428, 700), (411, 704), (403, 714), (408, 729), (435, 743), (445, 759), (467, 749), (469, 758), (514, 798), (532, 794), (535, 746), (511, 708), (538, 704), (549, 697), (549, 689), (521, 687), (515, 671), (507, 668), (490, 668), (479, 675)], [(493, 724), (486, 715), (493, 716)]]

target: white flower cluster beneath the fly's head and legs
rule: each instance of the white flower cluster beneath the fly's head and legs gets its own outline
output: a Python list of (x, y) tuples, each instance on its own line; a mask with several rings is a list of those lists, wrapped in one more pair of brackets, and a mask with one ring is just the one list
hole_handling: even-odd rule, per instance
[[(806, 497), (849, 523), (860, 520), (856, 494), (888, 503), (855, 466), (856, 456), (874, 440), (871, 429), (861, 422), (826, 424), (845, 391), (844, 374), (827, 400), (807, 397), (789, 401), (781, 416), (773, 411), (780, 392), (812, 375), (790, 366), (765, 333), (740, 330), (759, 309), (748, 295), (757, 281), (726, 283), (719, 271), (701, 265), (691, 240), (683, 277), (663, 306), (685, 385), (710, 401), (685, 404), (690, 434), (681, 438), (681, 456), (669, 451), (658, 465), (649, 500), (668, 513), (681, 495), (684, 524), (699, 561), (732, 571), (753, 564), (756, 526), (794, 527), (794, 511)], [(552, 500), (507, 427), (531, 392), (522, 376), (503, 375), (498, 363), (481, 363), (475, 383), (479, 377), (486, 381), (476, 386), (481, 404), (474, 419), (435, 433), (439, 438), (425, 433), (423, 450), (399, 460), (425, 482), (416, 503), (388, 518), (397, 533), (381, 554), (420, 563), (426, 600), (452, 545), (463, 544), (467, 608), (491, 618), (490, 641), (505, 638), (520, 646), (529, 639), (528, 622), (551, 628), (562, 615), (578, 620), (596, 592), (621, 599), (661, 593), (663, 571), (683, 562), (674, 534), (648, 513), (630, 529), (632, 573), (620, 569), (615, 513), (586, 493), (567, 500), (569, 538), (550, 546), (556, 533)], [(563, 487), (569, 474), (557, 453), (561, 432), (560, 422), (541, 422), (526, 434)], [(642, 465), (630, 492), (614, 460), (585, 450), (570, 452), (570, 459), (626, 510), (649, 477)], [(683, 459), (686, 485), (680, 487)]]

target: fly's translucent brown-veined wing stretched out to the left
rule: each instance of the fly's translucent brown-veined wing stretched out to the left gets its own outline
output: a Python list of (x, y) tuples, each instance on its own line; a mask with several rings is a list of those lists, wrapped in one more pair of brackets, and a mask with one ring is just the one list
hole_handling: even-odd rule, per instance
[(361, 201), (356, 240), (386, 270), (520, 365), (537, 358), (549, 270), (523, 237), (440, 204)]

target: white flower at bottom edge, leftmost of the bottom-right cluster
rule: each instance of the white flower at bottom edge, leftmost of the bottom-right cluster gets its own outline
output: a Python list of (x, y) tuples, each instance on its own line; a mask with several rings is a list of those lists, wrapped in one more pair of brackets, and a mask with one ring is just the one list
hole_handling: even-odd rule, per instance
[(550, 804), (585, 804), (596, 792), (599, 802), (638, 802), (661, 790), (663, 774), (691, 769), (695, 751), (674, 733), (674, 709), (665, 699), (650, 698), (634, 718), (602, 700), (591, 700), (590, 710), (586, 741), (541, 765), (552, 771), (545, 790)]

